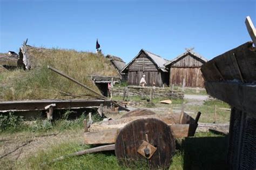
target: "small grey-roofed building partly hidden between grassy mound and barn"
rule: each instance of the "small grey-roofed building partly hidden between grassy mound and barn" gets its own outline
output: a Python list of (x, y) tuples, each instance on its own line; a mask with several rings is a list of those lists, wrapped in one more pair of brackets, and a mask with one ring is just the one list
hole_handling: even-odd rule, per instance
[(123, 61), (123, 59), (120, 58), (120, 57), (112, 56), (112, 55), (107, 55), (106, 58), (109, 59), (111, 64), (117, 69), (120, 76), (122, 77), (121, 80), (126, 81), (127, 80), (127, 74), (121, 73), (122, 69), (126, 65), (125, 62)]

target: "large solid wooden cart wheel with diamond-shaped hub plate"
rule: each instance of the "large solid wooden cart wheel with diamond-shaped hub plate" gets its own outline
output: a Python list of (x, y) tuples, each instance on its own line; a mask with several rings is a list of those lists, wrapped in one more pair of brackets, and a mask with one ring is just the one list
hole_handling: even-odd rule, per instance
[(151, 168), (169, 168), (175, 152), (171, 128), (163, 121), (137, 119), (120, 130), (115, 144), (115, 153), (120, 164), (136, 164), (146, 160)]

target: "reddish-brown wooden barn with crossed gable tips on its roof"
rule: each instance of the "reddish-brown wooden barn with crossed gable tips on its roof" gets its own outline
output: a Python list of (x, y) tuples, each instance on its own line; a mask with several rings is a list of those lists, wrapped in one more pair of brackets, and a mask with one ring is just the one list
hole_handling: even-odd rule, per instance
[(186, 87), (204, 87), (200, 67), (207, 62), (207, 59), (198, 53), (186, 50), (171, 62), (165, 65), (170, 73), (170, 84), (181, 86), (185, 79)]

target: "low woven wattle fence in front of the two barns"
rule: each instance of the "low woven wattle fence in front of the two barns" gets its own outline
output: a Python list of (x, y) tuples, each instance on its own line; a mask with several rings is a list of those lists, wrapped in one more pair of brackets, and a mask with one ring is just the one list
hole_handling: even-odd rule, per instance
[[(129, 97), (131, 96), (152, 96), (154, 98), (166, 97), (170, 99), (183, 99), (184, 92), (172, 91), (170, 87), (142, 87), (142, 86), (127, 86)], [(112, 90), (113, 96), (123, 96), (125, 87), (114, 87)]]

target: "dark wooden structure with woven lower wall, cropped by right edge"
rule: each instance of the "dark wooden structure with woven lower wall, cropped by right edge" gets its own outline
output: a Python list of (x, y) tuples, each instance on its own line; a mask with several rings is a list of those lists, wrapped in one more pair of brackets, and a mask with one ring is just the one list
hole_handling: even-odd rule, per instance
[(256, 169), (255, 63), (256, 49), (252, 42), (247, 42), (201, 67), (207, 93), (232, 108), (227, 153), (229, 169)]

